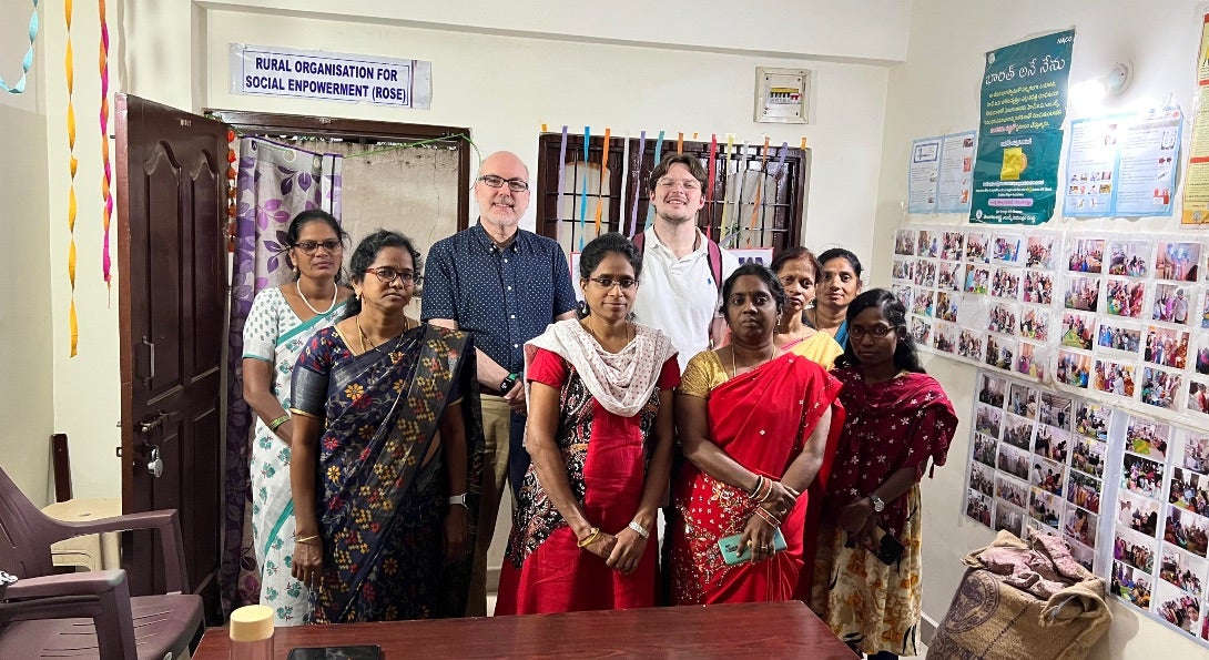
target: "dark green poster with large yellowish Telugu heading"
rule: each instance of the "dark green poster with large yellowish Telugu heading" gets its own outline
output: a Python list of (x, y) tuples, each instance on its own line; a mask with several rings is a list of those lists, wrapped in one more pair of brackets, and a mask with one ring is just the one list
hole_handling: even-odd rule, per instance
[(1054, 212), (1075, 30), (987, 53), (971, 222), (1040, 225)]

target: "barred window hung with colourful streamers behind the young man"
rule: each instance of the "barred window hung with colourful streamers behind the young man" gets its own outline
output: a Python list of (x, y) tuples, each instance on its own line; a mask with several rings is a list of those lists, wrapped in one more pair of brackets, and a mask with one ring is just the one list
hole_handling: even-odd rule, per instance
[[(562, 135), (546, 133), (538, 141), (537, 231), (555, 238), (563, 250), (579, 251), (600, 233), (631, 236), (653, 221), (648, 179), (655, 161), (655, 140), (594, 137), (584, 151), (583, 135), (568, 135), (565, 164), (559, 167)], [(675, 152), (676, 140), (663, 143), (663, 155)], [(684, 141), (683, 151), (700, 158), (710, 172), (710, 143)], [(806, 207), (810, 152), (763, 145), (727, 152), (719, 144), (713, 158), (713, 186), (704, 192), (698, 226), (724, 248), (773, 248), (774, 254), (798, 244)], [(561, 174), (561, 180), (560, 180)]]

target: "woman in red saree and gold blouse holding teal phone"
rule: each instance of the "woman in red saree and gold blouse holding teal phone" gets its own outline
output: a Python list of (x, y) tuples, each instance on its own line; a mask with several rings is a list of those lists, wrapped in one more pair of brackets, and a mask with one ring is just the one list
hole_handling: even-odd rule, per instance
[[(785, 601), (802, 592), (805, 493), (829, 469), (843, 423), (839, 383), (773, 342), (780, 280), (750, 264), (723, 285), (731, 343), (689, 360), (676, 396), (688, 463), (673, 488), (671, 600), (676, 604)], [(775, 552), (777, 528), (786, 549)], [(718, 540), (739, 534), (751, 558), (728, 565)]]

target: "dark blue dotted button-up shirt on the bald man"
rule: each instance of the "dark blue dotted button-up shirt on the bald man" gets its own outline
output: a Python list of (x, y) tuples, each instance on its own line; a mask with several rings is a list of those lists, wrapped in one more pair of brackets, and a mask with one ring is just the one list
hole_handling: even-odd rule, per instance
[(575, 308), (562, 247), (525, 230), (501, 250), (482, 224), (438, 241), (428, 254), (421, 317), (452, 319), (499, 366), (525, 367), (525, 342)]

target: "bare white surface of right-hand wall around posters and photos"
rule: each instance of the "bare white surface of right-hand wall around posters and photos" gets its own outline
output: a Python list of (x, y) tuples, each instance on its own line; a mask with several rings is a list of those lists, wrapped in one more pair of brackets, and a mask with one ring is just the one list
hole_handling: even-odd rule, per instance
[[(1101, 108), (1071, 108), (1068, 117), (1155, 105), (1169, 93), (1185, 111), (1191, 111), (1203, 13), (1197, 10), (1197, 4), (1190, 0), (1111, 5), (1088, 0), (1023, 0), (1011, 7), (962, 0), (918, 0), (912, 12), (907, 63), (895, 66), (890, 75), (874, 257), (870, 260), (873, 283), (889, 283), (889, 255), (893, 230), (899, 222), (965, 222), (962, 216), (906, 215), (907, 163), (912, 139), (976, 128), (983, 53), (1074, 25), (1071, 83), (1103, 75), (1116, 58), (1132, 59), (1135, 77), (1122, 98)], [(1190, 134), (1191, 131), (1185, 131), (1185, 146)], [(1062, 208), (1060, 199), (1058, 208)], [(1055, 219), (1051, 226), (1070, 227), (1072, 222)], [(1178, 221), (1156, 218), (1091, 220), (1078, 226), (1173, 231)], [(973, 405), (976, 370), (941, 358), (929, 360), (926, 367), (944, 384), (959, 413), (967, 416)], [(962, 424), (949, 452), (948, 467), (938, 469), (936, 479), (925, 481), (924, 487), (924, 610), (936, 620), (943, 618), (956, 591), (962, 574), (961, 557), (994, 538), (988, 528), (961, 515), (968, 438), (968, 424)], [(1207, 655), (1204, 648), (1130, 608), (1113, 602), (1111, 609), (1116, 620), (1105, 641), (1092, 653), (1093, 658)]]

